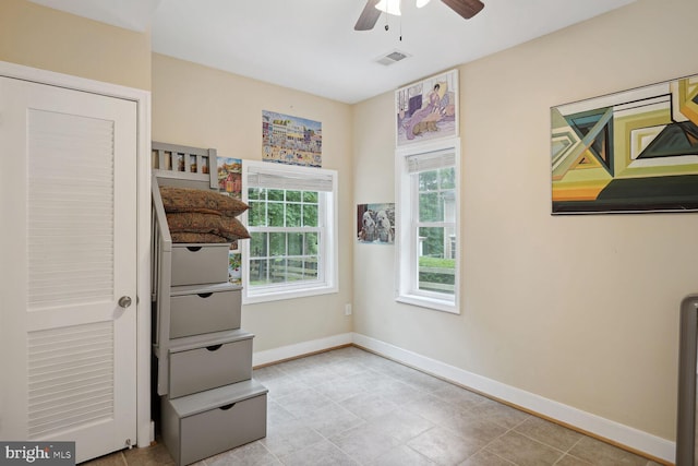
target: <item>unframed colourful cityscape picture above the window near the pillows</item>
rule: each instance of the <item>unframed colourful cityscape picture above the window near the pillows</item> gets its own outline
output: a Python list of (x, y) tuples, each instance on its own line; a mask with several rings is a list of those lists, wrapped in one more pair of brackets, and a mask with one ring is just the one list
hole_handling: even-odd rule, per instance
[(262, 160), (322, 167), (322, 154), (321, 122), (262, 110)]

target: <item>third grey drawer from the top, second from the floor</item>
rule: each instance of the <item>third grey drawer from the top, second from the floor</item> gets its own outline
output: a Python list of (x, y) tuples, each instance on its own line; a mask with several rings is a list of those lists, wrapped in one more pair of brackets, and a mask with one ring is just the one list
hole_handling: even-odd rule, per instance
[(253, 334), (232, 331), (226, 342), (194, 348), (170, 348), (170, 398), (249, 380)]

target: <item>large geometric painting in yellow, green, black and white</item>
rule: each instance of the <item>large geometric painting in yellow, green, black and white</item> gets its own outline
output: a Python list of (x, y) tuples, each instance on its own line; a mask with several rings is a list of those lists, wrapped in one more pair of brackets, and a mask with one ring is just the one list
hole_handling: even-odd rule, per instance
[(698, 75), (551, 108), (552, 213), (698, 211)]

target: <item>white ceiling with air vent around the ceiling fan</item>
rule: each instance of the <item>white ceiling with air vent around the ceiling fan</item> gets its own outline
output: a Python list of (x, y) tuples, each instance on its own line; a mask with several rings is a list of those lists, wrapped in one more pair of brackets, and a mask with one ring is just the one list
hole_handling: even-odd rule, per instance
[[(158, 53), (353, 104), (635, 0), (482, 0), (471, 20), (440, 0), (404, 0), (401, 16), (384, 14), (368, 32), (353, 29), (365, 0), (32, 1), (151, 27)], [(375, 62), (394, 50), (410, 57)]]

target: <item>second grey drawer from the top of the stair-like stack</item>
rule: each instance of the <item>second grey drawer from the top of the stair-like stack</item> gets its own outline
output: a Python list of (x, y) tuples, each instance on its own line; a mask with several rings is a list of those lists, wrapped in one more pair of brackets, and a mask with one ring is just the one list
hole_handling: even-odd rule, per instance
[(240, 328), (239, 287), (230, 285), (184, 292), (173, 292), (170, 298), (170, 338)]

